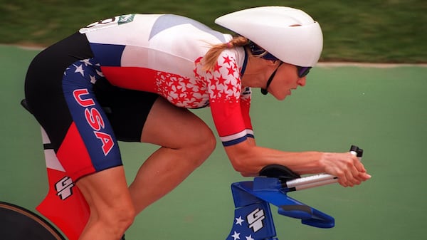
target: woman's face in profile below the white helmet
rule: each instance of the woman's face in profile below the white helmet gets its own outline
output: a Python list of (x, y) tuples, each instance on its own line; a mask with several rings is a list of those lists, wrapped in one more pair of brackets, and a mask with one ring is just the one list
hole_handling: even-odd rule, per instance
[(291, 90), (297, 89), (298, 86), (305, 86), (304, 76), (298, 77), (297, 67), (289, 63), (283, 63), (279, 66), (273, 80), (268, 87), (268, 93), (278, 100), (283, 100), (286, 96), (291, 95)]

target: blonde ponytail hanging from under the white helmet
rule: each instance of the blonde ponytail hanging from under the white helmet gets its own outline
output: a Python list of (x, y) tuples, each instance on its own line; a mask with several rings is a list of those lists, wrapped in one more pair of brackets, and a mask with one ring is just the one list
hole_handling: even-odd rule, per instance
[(219, 43), (211, 47), (203, 58), (203, 70), (211, 71), (215, 68), (216, 61), (221, 52), (226, 48), (233, 48), (238, 46), (246, 46), (249, 43), (249, 39), (244, 36), (233, 36), (233, 39), (228, 43)]

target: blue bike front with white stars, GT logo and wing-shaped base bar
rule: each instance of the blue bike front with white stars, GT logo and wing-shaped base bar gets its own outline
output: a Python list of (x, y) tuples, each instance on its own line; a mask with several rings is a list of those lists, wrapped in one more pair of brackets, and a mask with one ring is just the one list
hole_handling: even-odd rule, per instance
[(302, 219), (302, 224), (320, 228), (334, 226), (332, 216), (288, 197), (277, 178), (255, 177), (253, 181), (236, 182), (231, 184), (231, 192), (236, 207), (235, 222), (226, 240), (243, 239), (243, 236), (253, 240), (278, 240), (270, 204), (278, 207), (281, 215)]

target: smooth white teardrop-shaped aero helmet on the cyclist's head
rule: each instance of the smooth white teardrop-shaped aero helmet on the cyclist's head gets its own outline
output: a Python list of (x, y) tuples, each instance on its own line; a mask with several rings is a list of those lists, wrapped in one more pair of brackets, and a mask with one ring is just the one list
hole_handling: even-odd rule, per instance
[(215, 23), (251, 40), (280, 61), (312, 67), (322, 53), (322, 29), (299, 9), (261, 6), (218, 17)]

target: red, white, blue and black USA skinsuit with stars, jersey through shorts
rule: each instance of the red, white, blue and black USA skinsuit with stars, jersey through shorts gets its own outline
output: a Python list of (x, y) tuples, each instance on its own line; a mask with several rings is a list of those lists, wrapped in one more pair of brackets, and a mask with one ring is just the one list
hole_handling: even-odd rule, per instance
[(243, 48), (228, 48), (212, 71), (201, 58), (231, 40), (170, 14), (104, 19), (46, 48), (26, 77), (26, 100), (73, 179), (122, 165), (117, 140), (139, 142), (158, 96), (182, 108), (210, 106), (224, 146), (253, 137), (251, 88), (241, 85)]

